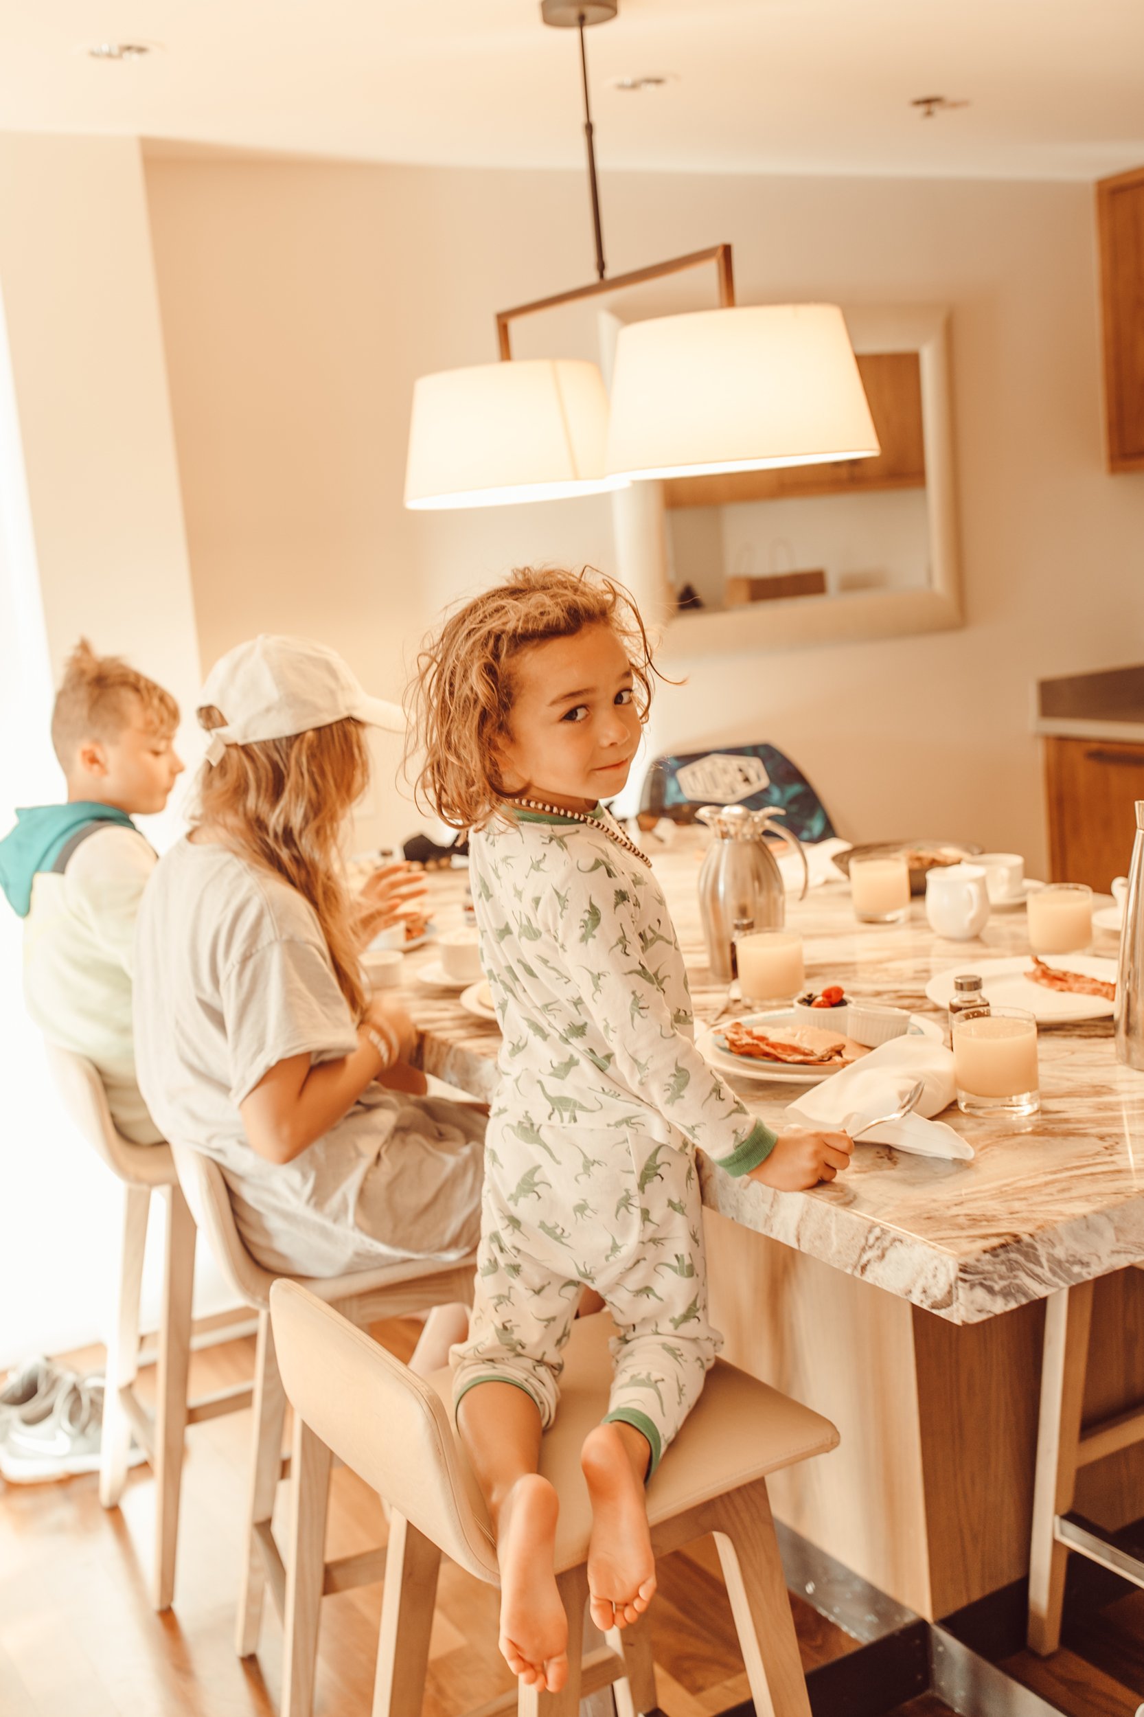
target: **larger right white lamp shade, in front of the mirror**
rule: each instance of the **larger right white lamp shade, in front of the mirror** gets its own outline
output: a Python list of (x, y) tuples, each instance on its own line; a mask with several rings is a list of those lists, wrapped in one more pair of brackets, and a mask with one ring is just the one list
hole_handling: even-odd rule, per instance
[(613, 474), (692, 477), (878, 452), (837, 304), (747, 304), (620, 330)]

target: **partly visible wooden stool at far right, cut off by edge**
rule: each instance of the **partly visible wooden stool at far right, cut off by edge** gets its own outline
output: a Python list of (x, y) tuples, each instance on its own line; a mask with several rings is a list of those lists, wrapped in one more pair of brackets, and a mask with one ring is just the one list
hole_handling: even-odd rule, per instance
[[(1144, 1264), (1134, 1269), (1144, 1269)], [(1144, 1405), (1082, 1429), (1092, 1289), (1091, 1281), (1077, 1283), (1050, 1295), (1044, 1303), (1041, 1422), (1029, 1556), (1029, 1650), (1041, 1657), (1060, 1645), (1070, 1550), (1144, 1587), (1144, 1562), (1111, 1544), (1092, 1521), (1072, 1513), (1077, 1471), (1082, 1466), (1144, 1442)]]

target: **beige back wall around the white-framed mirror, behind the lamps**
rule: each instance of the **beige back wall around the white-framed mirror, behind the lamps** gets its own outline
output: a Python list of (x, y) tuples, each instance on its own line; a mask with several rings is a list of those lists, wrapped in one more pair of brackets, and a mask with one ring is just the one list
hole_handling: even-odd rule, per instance
[[(393, 692), (441, 603), (522, 560), (612, 563), (601, 498), (400, 505), (414, 378), (491, 359), (498, 307), (589, 278), (579, 175), (172, 158), (146, 175), (206, 659), (309, 630)], [(740, 302), (953, 311), (965, 630), (684, 661), (661, 742), (768, 738), (852, 838), (977, 838), (1043, 871), (1032, 683), (1139, 661), (1144, 623), (1144, 476), (1101, 458), (1091, 192), (605, 172), (603, 209), (617, 273), (730, 239)], [(649, 312), (680, 304), (656, 290)], [(709, 302), (703, 276), (687, 292)], [(584, 319), (519, 328), (522, 354), (594, 340)]]

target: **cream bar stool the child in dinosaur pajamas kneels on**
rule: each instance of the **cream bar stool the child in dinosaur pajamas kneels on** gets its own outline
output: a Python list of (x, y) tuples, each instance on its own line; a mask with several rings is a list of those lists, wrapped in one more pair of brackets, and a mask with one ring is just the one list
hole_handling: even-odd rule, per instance
[[(488, 1513), (453, 1432), (450, 1374), (414, 1377), (295, 1283), (275, 1283), (271, 1312), (294, 1406), (297, 1475), (282, 1717), (307, 1717), (311, 1710), (332, 1456), (390, 1506), (373, 1717), (419, 1717), (441, 1556), (488, 1585), (498, 1583)], [(606, 1314), (574, 1326), (560, 1411), (541, 1447), (541, 1471), (560, 1494), (557, 1576), (569, 1616), (569, 1684), (562, 1693), (522, 1684), (503, 1702), (484, 1705), (481, 1717), (512, 1707), (520, 1717), (575, 1717), (579, 1700), (610, 1683), (620, 1717), (656, 1705), (646, 1623), (617, 1629), (606, 1636), (606, 1648), (582, 1657), (591, 1509), (581, 1446), (606, 1411), (610, 1334)], [(759, 1717), (811, 1712), (766, 1475), (837, 1442), (830, 1420), (716, 1362), (699, 1405), (648, 1485), (656, 1556), (715, 1533)]]

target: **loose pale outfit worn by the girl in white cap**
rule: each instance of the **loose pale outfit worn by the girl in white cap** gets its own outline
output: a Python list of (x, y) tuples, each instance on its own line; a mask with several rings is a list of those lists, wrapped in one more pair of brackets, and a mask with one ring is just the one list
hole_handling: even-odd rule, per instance
[(139, 912), (139, 1083), (167, 1138), (222, 1164), (266, 1269), (337, 1276), (476, 1245), (484, 1118), (464, 1104), (369, 1085), (292, 1162), (251, 1149), (239, 1104), (271, 1066), (356, 1046), (309, 901), (225, 846), (172, 846)]

